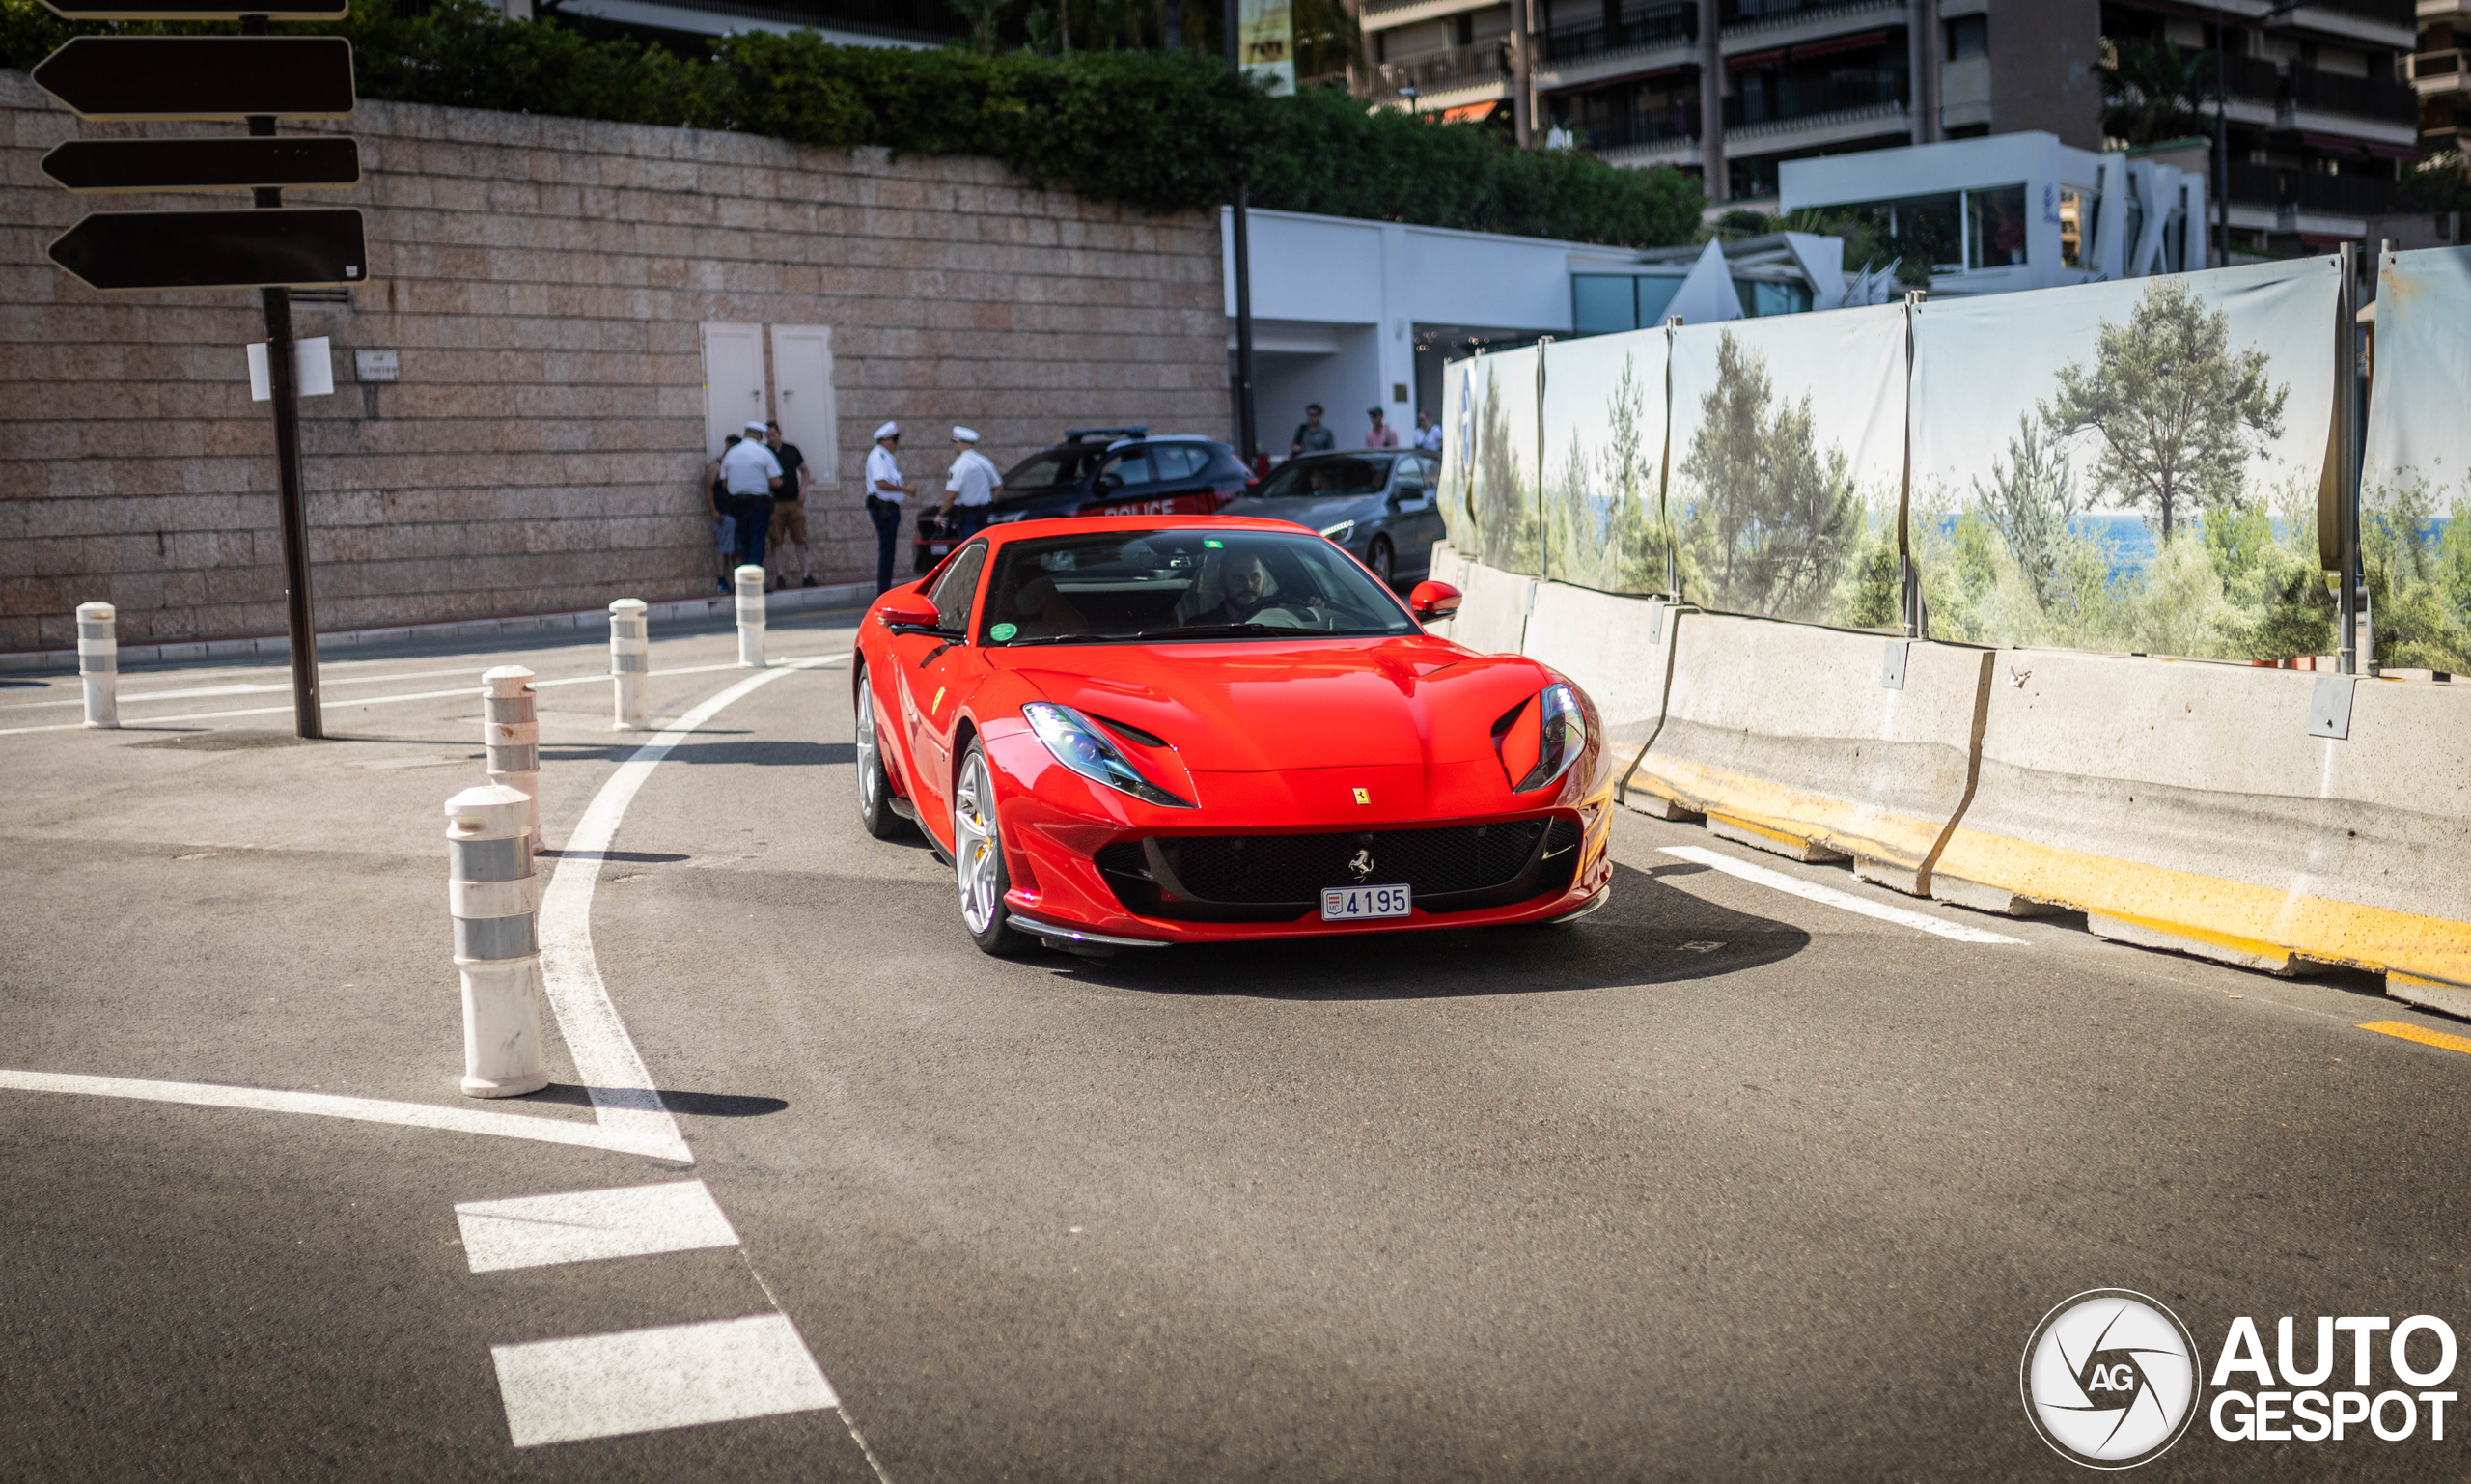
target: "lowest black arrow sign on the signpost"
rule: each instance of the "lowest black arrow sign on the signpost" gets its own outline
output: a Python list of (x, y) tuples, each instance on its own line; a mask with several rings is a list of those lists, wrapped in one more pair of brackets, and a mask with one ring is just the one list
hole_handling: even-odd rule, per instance
[(52, 242), (52, 262), (96, 289), (356, 284), (368, 235), (356, 210), (116, 210)]

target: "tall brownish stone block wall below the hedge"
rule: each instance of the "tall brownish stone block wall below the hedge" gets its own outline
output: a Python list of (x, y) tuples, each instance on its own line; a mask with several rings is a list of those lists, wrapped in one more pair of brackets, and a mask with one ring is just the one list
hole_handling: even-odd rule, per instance
[[(304, 126), (311, 129), (311, 126)], [(867, 433), (941, 487), (944, 430), (998, 465), (1065, 425), (1226, 435), (1216, 220), (1030, 190), (993, 161), (363, 101), (371, 282), (301, 302), (336, 393), (301, 401), (319, 628), (712, 591), (702, 324), (833, 326), (840, 467), (810, 492), (823, 581), (875, 576)], [(91, 208), (37, 161), (79, 124), (0, 72), (0, 650), (279, 633), (257, 294), (96, 294), (44, 247)], [(400, 381), (356, 383), (356, 349)], [(904, 564), (907, 571), (907, 552)]]

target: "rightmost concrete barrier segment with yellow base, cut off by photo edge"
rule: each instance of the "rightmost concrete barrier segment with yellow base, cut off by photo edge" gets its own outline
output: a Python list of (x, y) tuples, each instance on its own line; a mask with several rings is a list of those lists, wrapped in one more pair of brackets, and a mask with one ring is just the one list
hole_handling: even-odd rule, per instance
[(2002, 650), (1932, 893), (2471, 1012), (2471, 688)]

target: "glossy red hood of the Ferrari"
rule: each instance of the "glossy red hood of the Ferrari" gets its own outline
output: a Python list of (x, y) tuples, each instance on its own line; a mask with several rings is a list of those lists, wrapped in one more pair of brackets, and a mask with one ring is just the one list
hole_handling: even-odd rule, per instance
[(1431, 636), (993, 650), (1033, 690), (1154, 732), (1196, 772), (1492, 757), (1492, 722), (1552, 675)]

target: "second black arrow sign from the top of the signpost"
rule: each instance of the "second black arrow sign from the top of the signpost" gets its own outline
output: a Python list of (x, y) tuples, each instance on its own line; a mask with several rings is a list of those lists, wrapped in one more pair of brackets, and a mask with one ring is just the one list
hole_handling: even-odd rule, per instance
[(79, 119), (348, 119), (343, 37), (72, 37), (35, 87)]

